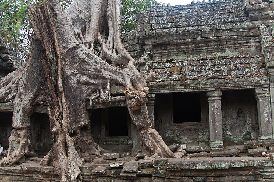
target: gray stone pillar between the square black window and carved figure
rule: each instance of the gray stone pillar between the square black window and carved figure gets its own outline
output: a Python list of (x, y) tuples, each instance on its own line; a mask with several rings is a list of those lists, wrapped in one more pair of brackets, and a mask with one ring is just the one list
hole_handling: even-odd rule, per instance
[(222, 109), (220, 90), (208, 91), (210, 150), (223, 150), (222, 141)]

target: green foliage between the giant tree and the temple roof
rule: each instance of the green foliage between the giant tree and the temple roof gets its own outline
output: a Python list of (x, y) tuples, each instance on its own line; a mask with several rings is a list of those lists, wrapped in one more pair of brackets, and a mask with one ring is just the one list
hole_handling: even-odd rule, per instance
[(122, 32), (137, 28), (137, 13), (159, 4), (155, 0), (122, 0)]

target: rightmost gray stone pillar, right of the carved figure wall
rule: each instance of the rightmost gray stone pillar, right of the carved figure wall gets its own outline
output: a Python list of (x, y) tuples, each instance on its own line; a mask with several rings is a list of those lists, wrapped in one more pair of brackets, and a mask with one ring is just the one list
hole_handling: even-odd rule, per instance
[(272, 140), (272, 119), (269, 88), (255, 89), (257, 100), (259, 137), (258, 142), (262, 140)]

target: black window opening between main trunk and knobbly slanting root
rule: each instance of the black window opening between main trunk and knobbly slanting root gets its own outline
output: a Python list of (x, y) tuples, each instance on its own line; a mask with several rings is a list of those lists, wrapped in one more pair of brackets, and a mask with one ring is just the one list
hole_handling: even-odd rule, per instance
[(127, 107), (108, 108), (108, 116), (108, 121), (105, 122), (105, 131), (109, 131), (108, 136), (128, 136)]

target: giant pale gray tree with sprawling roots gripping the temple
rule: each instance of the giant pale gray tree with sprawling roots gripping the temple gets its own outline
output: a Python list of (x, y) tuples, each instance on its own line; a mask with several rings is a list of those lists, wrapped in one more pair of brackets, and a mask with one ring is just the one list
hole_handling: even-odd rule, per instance
[(29, 6), (29, 17), (35, 33), (30, 57), (0, 83), (0, 101), (14, 99), (15, 130), (9, 140), (20, 146), (0, 165), (36, 156), (28, 133), (33, 106), (41, 104), (48, 106), (51, 133), (56, 136), (41, 165), (54, 165), (61, 181), (76, 181), (77, 176), (81, 180), (82, 158), (106, 152), (91, 137), (85, 102), (109, 101), (111, 85), (126, 87), (128, 110), (146, 151), (153, 157), (173, 157), (152, 129), (145, 105), (149, 89), (121, 42), (120, 1), (75, 0), (65, 11), (57, 0), (42, 0)]

